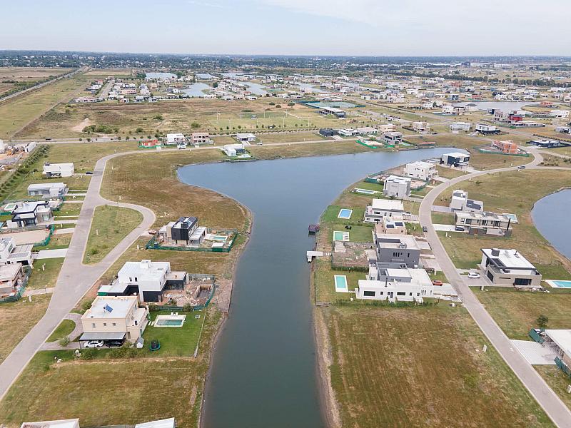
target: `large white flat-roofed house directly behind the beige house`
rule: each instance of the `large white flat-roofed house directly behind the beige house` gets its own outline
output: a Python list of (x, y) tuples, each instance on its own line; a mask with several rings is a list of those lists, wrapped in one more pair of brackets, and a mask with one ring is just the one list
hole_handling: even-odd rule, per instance
[(169, 262), (126, 262), (111, 285), (103, 286), (100, 292), (110, 296), (138, 294), (141, 302), (161, 302), (163, 291), (181, 290), (188, 283), (188, 273), (171, 271)]

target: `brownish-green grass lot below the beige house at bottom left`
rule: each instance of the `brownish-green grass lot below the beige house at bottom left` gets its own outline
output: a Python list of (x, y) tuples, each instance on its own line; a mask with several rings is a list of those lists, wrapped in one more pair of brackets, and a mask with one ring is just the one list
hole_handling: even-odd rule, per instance
[(21, 421), (79, 417), (96, 427), (176, 417), (179, 427), (196, 427), (219, 320), (207, 317), (196, 358), (88, 361), (74, 360), (71, 351), (38, 352), (0, 402), (3, 422), (16, 428)]

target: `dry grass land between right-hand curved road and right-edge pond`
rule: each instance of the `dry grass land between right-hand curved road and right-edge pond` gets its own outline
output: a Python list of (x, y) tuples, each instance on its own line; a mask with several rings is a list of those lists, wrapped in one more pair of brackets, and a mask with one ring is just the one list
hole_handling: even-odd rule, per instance
[[(514, 213), (519, 224), (512, 226), (510, 238), (475, 237), (463, 233), (440, 233), (443, 244), (457, 267), (475, 267), (482, 256), (480, 248), (515, 248), (544, 274), (545, 279), (562, 279), (571, 272), (571, 262), (557, 253), (532, 223), (530, 212), (536, 200), (571, 185), (571, 171), (526, 170), (495, 173), (459, 183), (455, 188), (468, 191), (470, 198), (482, 200), (485, 210)], [(438, 205), (448, 205), (453, 188), (443, 193)]]

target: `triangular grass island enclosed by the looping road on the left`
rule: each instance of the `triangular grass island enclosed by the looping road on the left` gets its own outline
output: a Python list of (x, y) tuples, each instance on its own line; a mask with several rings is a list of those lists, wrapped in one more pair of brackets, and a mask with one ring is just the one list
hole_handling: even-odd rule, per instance
[(101, 205), (95, 209), (84, 263), (98, 263), (136, 228), (143, 215), (131, 208)]

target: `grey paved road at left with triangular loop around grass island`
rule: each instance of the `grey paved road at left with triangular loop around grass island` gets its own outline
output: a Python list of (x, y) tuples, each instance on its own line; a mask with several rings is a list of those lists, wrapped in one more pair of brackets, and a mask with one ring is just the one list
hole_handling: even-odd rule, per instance
[[(148, 208), (129, 203), (111, 202), (102, 198), (99, 194), (107, 161), (125, 154), (116, 153), (97, 161), (84, 205), (81, 207), (81, 213), (75, 228), (76, 232), (71, 238), (71, 243), (69, 244), (64, 264), (61, 266), (56, 289), (49, 302), (46, 315), (29, 331), (26, 337), (21, 340), (0, 365), (0, 399), (4, 397), (11, 384), (24, 370), (31, 357), (34, 357), (34, 354), (51, 335), (51, 332), (56, 329), (61, 320), (68, 315), (69, 311), (74, 308), (89, 288), (94, 285), (94, 282), (135, 242), (141, 233), (155, 222), (155, 215)], [(138, 210), (143, 214), (143, 221), (121, 243), (113, 248), (100, 263), (83, 265), (84, 250), (87, 245), (87, 237), (89, 236), (94, 210), (98, 205), (104, 204)]]

